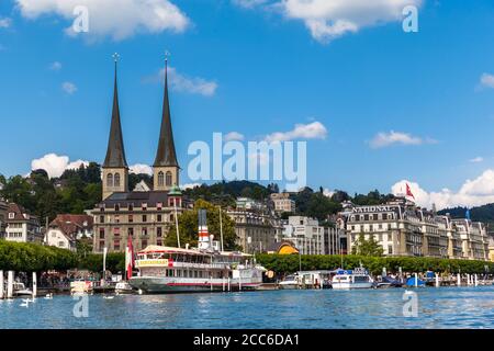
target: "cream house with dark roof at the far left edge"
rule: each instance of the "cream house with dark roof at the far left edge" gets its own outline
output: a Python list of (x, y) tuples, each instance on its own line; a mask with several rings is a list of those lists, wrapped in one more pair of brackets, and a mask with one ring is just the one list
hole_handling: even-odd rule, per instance
[(16, 242), (41, 242), (40, 220), (22, 206), (9, 203), (7, 208), (5, 240)]

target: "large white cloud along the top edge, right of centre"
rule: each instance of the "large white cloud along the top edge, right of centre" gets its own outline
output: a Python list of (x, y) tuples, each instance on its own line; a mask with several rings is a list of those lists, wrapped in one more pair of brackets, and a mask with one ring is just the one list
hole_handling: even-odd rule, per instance
[[(404, 19), (407, 5), (420, 7), (423, 0), (234, 0), (243, 8), (276, 9), (287, 19), (302, 21), (312, 36), (329, 43), (363, 27)], [(269, 4), (268, 4), (269, 2)]]

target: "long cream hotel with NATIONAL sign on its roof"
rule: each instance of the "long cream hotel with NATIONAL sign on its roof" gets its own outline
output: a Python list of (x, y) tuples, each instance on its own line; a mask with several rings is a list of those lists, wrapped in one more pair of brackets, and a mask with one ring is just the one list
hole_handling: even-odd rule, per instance
[(404, 197), (372, 206), (347, 202), (340, 218), (349, 252), (363, 234), (366, 240), (372, 236), (379, 242), (384, 256), (487, 260), (487, 236), (482, 224), (439, 216)]

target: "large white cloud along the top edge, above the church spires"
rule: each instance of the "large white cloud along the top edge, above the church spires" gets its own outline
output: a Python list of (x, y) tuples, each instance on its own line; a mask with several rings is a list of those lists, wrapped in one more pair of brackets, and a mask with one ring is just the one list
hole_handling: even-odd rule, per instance
[[(183, 32), (190, 26), (187, 15), (169, 0), (15, 0), (24, 18), (55, 14), (69, 22), (68, 35), (92, 38), (110, 36), (122, 41), (137, 33)], [(74, 10), (83, 5), (89, 13), (89, 32), (76, 33)]]

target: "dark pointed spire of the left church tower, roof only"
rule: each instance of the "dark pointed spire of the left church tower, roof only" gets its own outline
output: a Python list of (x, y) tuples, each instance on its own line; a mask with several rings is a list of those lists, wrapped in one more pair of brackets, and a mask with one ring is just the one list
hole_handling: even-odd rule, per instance
[(119, 109), (119, 90), (116, 86), (116, 63), (119, 61), (119, 54), (113, 54), (115, 60), (115, 82), (113, 87), (113, 111), (112, 122), (110, 126), (110, 137), (108, 140), (106, 157), (104, 159), (103, 167), (105, 168), (127, 168), (127, 160), (125, 159), (125, 149), (122, 136), (122, 125), (120, 122), (120, 109)]

